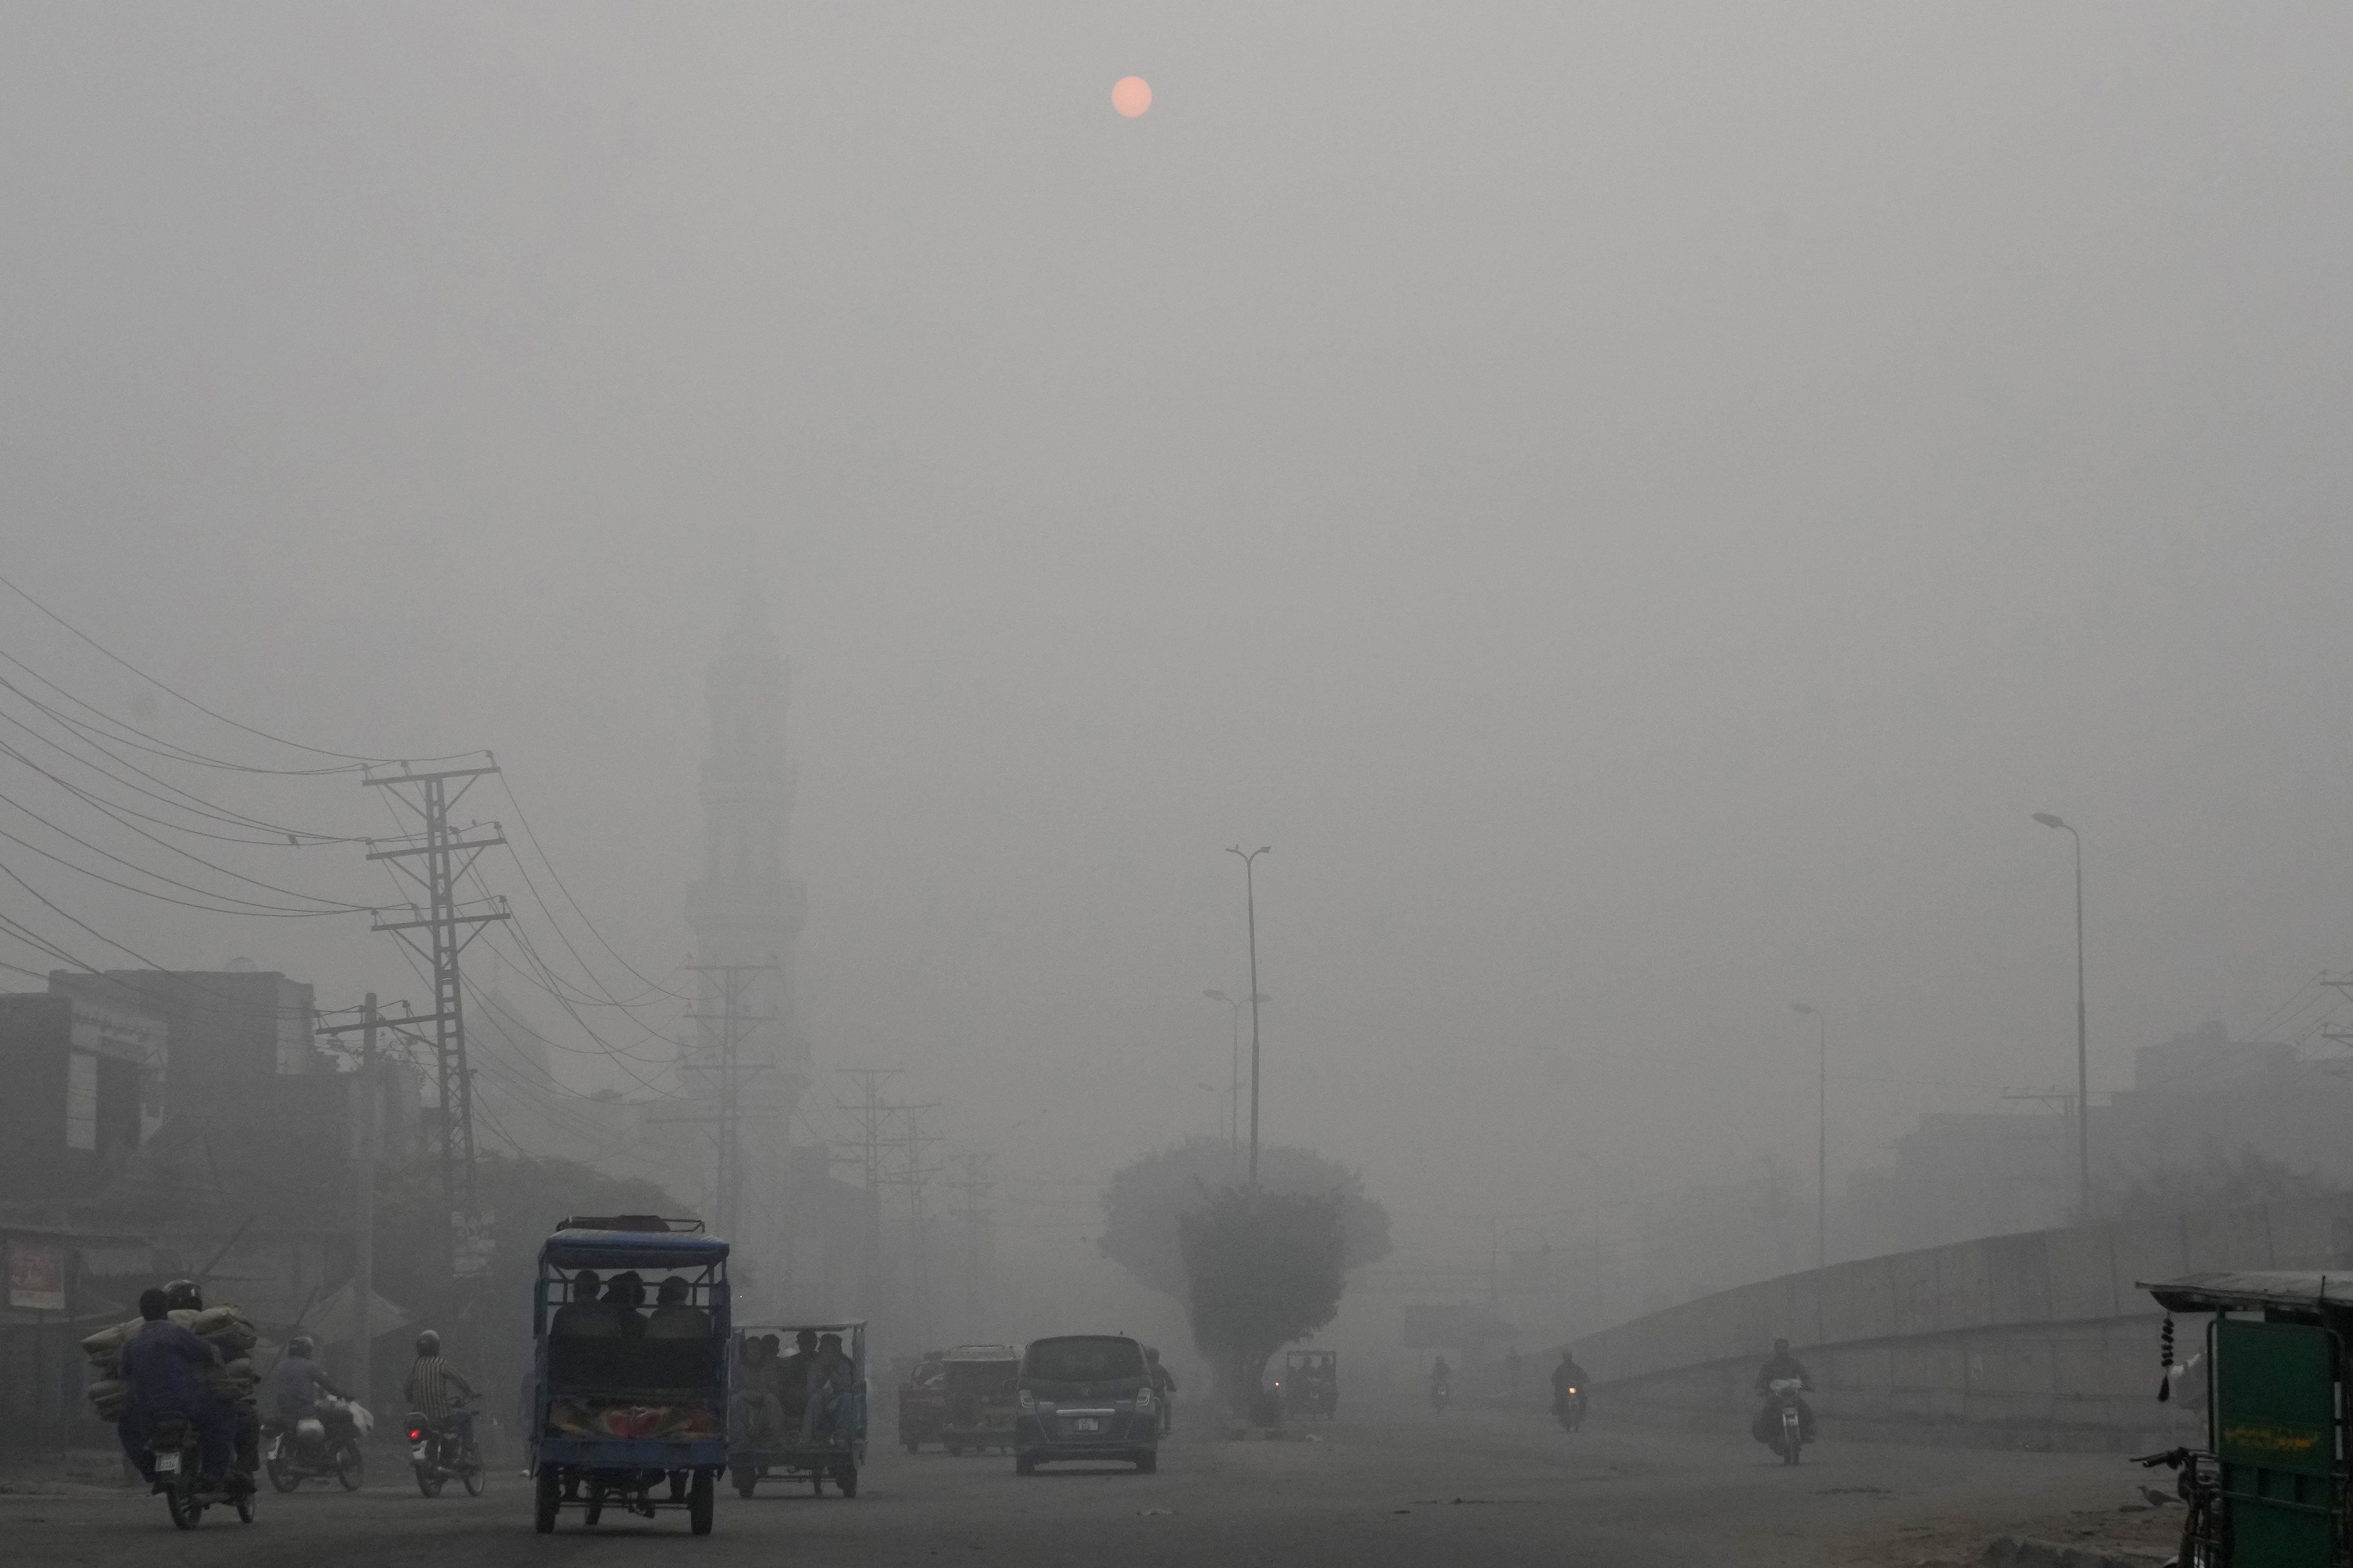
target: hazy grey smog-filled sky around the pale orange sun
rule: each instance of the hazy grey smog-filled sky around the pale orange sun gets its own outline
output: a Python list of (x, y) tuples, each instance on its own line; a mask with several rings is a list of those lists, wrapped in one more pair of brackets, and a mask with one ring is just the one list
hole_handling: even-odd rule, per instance
[[(1235, 842), (1268, 1135), (1400, 1211), (1807, 1161), (1793, 999), (1852, 1166), (2071, 1074), (2033, 811), (2089, 849), (2101, 1084), (2353, 964), (2348, 47), (2334, 2), (16, 0), (0, 555), (247, 722), (496, 748), (640, 966), (758, 581), (819, 1063), (1035, 1175), (1217, 1126)], [(132, 710), (16, 604), (0, 646)], [(414, 990), (360, 924), (9, 863), (162, 961)]]

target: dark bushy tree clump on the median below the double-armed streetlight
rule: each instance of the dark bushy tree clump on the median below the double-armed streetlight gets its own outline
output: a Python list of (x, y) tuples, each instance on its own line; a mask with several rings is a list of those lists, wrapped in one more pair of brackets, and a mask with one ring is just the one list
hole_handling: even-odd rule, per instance
[(1388, 1211), (1355, 1171), (1289, 1145), (1259, 1150), (1249, 1201), (1233, 1150), (1188, 1138), (1111, 1178), (1096, 1246), (1186, 1302), (1219, 1394), (1242, 1408), (1275, 1349), (1332, 1321), (1348, 1269), (1388, 1255)]

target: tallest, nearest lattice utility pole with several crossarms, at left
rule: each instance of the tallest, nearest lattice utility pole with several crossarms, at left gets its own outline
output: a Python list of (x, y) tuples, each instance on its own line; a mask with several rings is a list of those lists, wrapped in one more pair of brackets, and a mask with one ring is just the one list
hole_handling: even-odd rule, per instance
[[(412, 773), (407, 764), (398, 773), (367, 771), (362, 785), (384, 790), (388, 799), (407, 809), (421, 823), (419, 832), (405, 835), (395, 849), (374, 849), (369, 860), (384, 860), (405, 875), (424, 893), (424, 905), (409, 905), (409, 919), (376, 919), (376, 931), (391, 931), (409, 945), (433, 969), (433, 1013), (412, 1023), (433, 1025), (433, 1058), (440, 1091), (440, 1164), (442, 1208), (449, 1215), (449, 1279), (478, 1274), (487, 1262), (482, 1248), (482, 1206), (473, 1185), (473, 1072), (466, 1065), (466, 997), (459, 954), (496, 919), (511, 919), (504, 898), (487, 898), (489, 910), (461, 910), (456, 879), (473, 870), (485, 849), (506, 844), (506, 835), (492, 823), (482, 835), (480, 825), (452, 832), (449, 809), (466, 797), (478, 778), (496, 773), (496, 759), (478, 769), (438, 769)], [(452, 780), (456, 788), (452, 790)], [(426, 933), (419, 943), (412, 931)]]

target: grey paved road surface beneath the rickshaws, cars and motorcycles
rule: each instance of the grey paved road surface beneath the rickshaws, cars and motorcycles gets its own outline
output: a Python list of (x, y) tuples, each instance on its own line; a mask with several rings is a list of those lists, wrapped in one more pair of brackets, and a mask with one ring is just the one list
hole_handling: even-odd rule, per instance
[[(1567, 1563), (1685, 1568), (1880, 1561), (1857, 1542), (1955, 1516), (2033, 1516), (2127, 1497), (2113, 1458), (1840, 1443), (1781, 1467), (1746, 1436), (1682, 1434), (1598, 1418), (1577, 1436), (1534, 1415), (1400, 1410), (1318, 1427), (1311, 1441), (1179, 1434), (1160, 1474), (1049, 1467), (1016, 1479), (1005, 1458), (878, 1448), (854, 1502), (722, 1490), (708, 1540), (685, 1514), (567, 1514), (532, 1533), (529, 1486), (492, 1476), (480, 1500), (426, 1500), (384, 1453), (358, 1495), (308, 1483), (264, 1493), (261, 1519), (214, 1509), (176, 1533), (146, 1495), (0, 1495), (0, 1559), (26, 1568), (238, 1563), (249, 1568), (478, 1568), (506, 1563), (711, 1563), (795, 1568), (946, 1563), (1132, 1568), (1212, 1563)], [(1887, 1561), (1915, 1561), (1889, 1556)]]

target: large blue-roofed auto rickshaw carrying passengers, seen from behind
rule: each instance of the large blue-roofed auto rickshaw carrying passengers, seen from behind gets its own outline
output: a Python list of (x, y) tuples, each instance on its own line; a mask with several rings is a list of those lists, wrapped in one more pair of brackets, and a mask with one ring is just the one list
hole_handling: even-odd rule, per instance
[(572, 1218), (532, 1286), (534, 1523), (579, 1507), (711, 1533), (727, 1467), (727, 1244), (701, 1220)]

